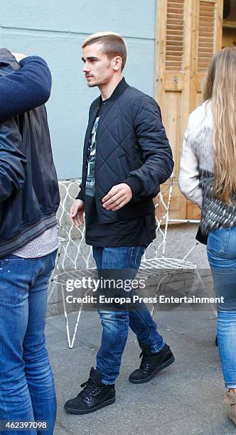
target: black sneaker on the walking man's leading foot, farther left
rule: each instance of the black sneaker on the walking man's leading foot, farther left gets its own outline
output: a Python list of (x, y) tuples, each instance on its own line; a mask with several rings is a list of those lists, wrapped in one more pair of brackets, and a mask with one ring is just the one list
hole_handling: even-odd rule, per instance
[(115, 401), (114, 384), (102, 384), (102, 375), (93, 367), (90, 370), (89, 379), (81, 384), (81, 387), (84, 389), (77, 397), (65, 403), (65, 411), (71, 414), (89, 414), (97, 409), (107, 407)]

